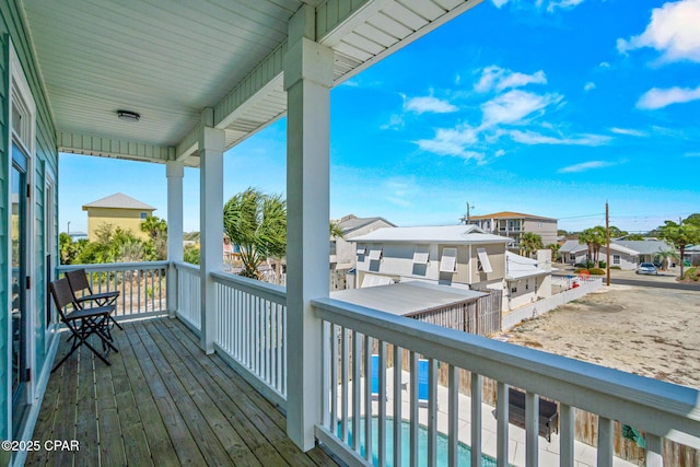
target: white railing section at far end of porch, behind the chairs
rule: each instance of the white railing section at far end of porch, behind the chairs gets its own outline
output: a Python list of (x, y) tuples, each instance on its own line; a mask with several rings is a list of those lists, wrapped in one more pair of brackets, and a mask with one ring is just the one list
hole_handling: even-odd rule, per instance
[(93, 293), (118, 290), (115, 317), (137, 318), (167, 313), (167, 261), (62, 265), (58, 273), (85, 269)]

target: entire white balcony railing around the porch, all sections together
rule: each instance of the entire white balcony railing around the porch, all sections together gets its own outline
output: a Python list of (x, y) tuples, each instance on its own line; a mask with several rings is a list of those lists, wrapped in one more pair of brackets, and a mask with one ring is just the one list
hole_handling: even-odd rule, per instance
[[(88, 270), (94, 291), (122, 292), (118, 304), (121, 316), (167, 310), (167, 262), (65, 266), (59, 270), (79, 267)], [(177, 304), (172, 307), (183, 322), (199, 329), (199, 268), (174, 267)], [(212, 280), (217, 289), (215, 351), (269, 400), (287, 408), (285, 290), (226, 273), (212, 273)], [(525, 455), (518, 454), (524, 465), (538, 464), (540, 440), (535, 415), (540, 397), (558, 404), (559, 448), (555, 451), (562, 466), (579, 460), (574, 458), (574, 452), (580, 451), (574, 448), (574, 419), (583, 411), (597, 418), (593, 430), (597, 439), (592, 440), (597, 450), (591, 447), (597, 459), (590, 464), (612, 465), (615, 432), (619, 431), (616, 421), (644, 434), (646, 465), (663, 465), (670, 443), (690, 446), (688, 458), (698, 459), (692, 451), (700, 448), (697, 389), (331, 299), (314, 301), (313, 305), (324, 331), (318, 350), (323, 417), (316, 436), (350, 464), (374, 459), (384, 465), (393, 457), (394, 465), (401, 465), (401, 460), (415, 465), (420, 456), (421, 464), (436, 465), (441, 432), (447, 437), (447, 447), (442, 450), (446, 450), (450, 465), (456, 465), (458, 441), (465, 437), (462, 429), (468, 433), (472, 465), (478, 465), (488, 444), (483, 434), (487, 423), (494, 425), (495, 439), (491, 443), (495, 447), (487, 450), (488, 454), (499, 466), (513, 463), (509, 430), (513, 434), (516, 429), (509, 424), (509, 387), (526, 392)], [(489, 412), (482, 416), (482, 401), (494, 404), (495, 420)], [(460, 418), (465, 411), (469, 412), (468, 425)], [(405, 423), (409, 425), (406, 440), (400, 435)], [(394, 428), (390, 436), (389, 425)], [(425, 425), (427, 448), (419, 448), (421, 425)]]

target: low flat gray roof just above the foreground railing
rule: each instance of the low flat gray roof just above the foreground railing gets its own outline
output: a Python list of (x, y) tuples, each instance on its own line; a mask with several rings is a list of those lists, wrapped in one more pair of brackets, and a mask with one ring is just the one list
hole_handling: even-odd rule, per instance
[(418, 281), (330, 292), (331, 299), (399, 316), (472, 302), (483, 295), (488, 293)]

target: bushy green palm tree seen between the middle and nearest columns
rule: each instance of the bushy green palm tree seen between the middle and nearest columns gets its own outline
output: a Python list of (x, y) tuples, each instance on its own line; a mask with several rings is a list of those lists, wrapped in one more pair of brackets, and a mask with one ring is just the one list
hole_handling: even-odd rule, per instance
[(234, 195), (223, 207), (223, 226), (241, 248), (242, 276), (259, 279), (258, 266), (266, 258), (280, 265), (287, 255), (287, 201), (281, 195), (253, 187)]

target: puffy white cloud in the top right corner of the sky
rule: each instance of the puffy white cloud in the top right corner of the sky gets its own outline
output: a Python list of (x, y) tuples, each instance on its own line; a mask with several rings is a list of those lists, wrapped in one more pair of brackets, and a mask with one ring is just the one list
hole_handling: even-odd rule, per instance
[(652, 11), (646, 30), (629, 40), (618, 39), (617, 49), (625, 54), (652, 47), (663, 59), (700, 61), (700, 0), (665, 3)]

